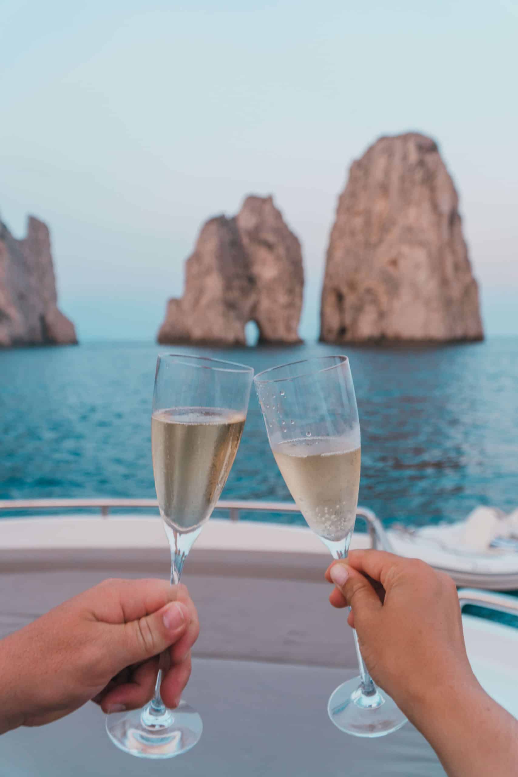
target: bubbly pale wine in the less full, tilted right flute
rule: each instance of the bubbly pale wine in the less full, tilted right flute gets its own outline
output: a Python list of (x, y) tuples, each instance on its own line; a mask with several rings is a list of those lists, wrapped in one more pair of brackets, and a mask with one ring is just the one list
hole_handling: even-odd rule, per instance
[(311, 437), (281, 442), (273, 448), (280, 472), (309, 527), (333, 542), (345, 539), (356, 520), (361, 461), (358, 437)]

